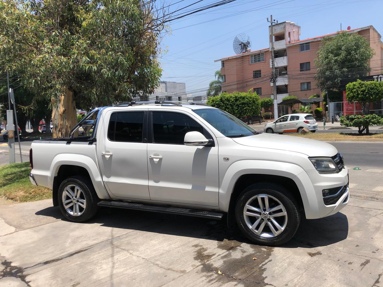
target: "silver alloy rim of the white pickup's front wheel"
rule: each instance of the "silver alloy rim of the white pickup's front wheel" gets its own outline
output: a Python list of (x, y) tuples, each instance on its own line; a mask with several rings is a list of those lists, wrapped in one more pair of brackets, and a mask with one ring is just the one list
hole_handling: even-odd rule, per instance
[(268, 194), (251, 197), (243, 210), (247, 227), (256, 235), (272, 238), (280, 235), (287, 225), (287, 212), (283, 204)]

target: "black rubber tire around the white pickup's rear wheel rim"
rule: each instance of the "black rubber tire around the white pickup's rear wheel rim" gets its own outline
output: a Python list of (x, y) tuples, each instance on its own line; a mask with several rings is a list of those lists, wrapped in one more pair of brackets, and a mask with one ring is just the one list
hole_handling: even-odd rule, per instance
[[(64, 208), (64, 204), (62, 202), (62, 194), (70, 185), (78, 186), (83, 193), (83, 199), (86, 201), (85, 209), (82, 207), (80, 208), (82, 212), (81, 215), (71, 215), (67, 210)], [(90, 182), (90, 179), (84, 178), (82, 176), (72, 176), (70, 178), (64, 179), (62, 183), (60, 184), (59, 191), (57, 192), (59, 206), (62, 214), (64, 217), (70, 221), (73, 222), (84, 222), (89, 219), (91, 219), (97, 212), (98, 209), (98, 197), (96, 194), (95, 189), (93, 188), (93, 184)], [(74, 205), (72, 205), (74, 206)]]

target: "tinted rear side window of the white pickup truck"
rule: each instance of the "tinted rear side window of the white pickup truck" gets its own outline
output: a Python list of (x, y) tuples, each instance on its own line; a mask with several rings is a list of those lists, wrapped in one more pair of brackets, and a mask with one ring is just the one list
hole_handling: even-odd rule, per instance
[(110, 117), (108, 139), (116, 142), (142, 142), (144, 112), (118, 112)]

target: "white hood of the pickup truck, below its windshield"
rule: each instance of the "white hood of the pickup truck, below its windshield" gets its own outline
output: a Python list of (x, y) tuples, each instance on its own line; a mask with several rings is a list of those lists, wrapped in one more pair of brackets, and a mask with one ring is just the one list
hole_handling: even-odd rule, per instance
[(304, 153), (309, 157), (332, 157), (338, 152), (333, 145), (327, 142), (305, 139), (303, 137), (292, 137), (291, 135), (261, 133), (249, 137), (237, 137), (232, 140), (240, 145), (247, 145), (249, 147), (287, 150)]

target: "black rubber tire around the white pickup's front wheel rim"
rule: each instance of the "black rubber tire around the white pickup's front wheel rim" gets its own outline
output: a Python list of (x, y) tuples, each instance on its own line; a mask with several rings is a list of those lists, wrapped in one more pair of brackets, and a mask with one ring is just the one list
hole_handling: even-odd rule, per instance
[[(255, 232), (250, 230), (250, 228), (248, 227), (245, 221), (244, 208), (246, 203), (252, 197), (255, 197), (259, 194), (266, 194), (268, 196), (274, 197), (275, 199), (277, 199), (278, 201), (282, 203), (283, 207), (286, 210), (287, 218), (286, 219), (285, 217), (282, 218), (282, 220), (284, 219), (286, 220), (285, 229), (280, 234), (274, 237), (264, 237), (264, 236), (255, 234)], [(271, 201), (272, 199), (270, 198), (270, 202)], [(270, 208), (271, 208), (271, 205), (270, 205)], [(242, 191), (242, 193), (237, 199), (235, 214), (236, 214), (237, 224), (241, 232), (247, 238), (249, 238), (249, 240), (260, 245), (275, 246), (275, 245), (286, 243), (295, 235), (296, 230), (298, 229), (299, 223), (300, 223), (299, 205), (295, 197), (293, 197), (293, 195), (288, 190), (286, 190), (283, 186), (280, 186), (278, 184), (267, 183), (267, 182), (252, 184), (249, 187), (247, 187), (244, 191)], [(258, 217), (254, 217), (254, 221), (257, 218)], [(262, 216), (260, 217), (260, 219), (262, 221), (265, 220), (265, 219), (262, 219)], [(262, 221), (260, 221), (260, 224), (262, 223)], [(270, 227), (267, 227), (267, 224), (265, 225), (264, 230), (265, 232), (267, 232), (267, 230), (270, 230), (270, 233), (271, 233), (271, 229)]]

